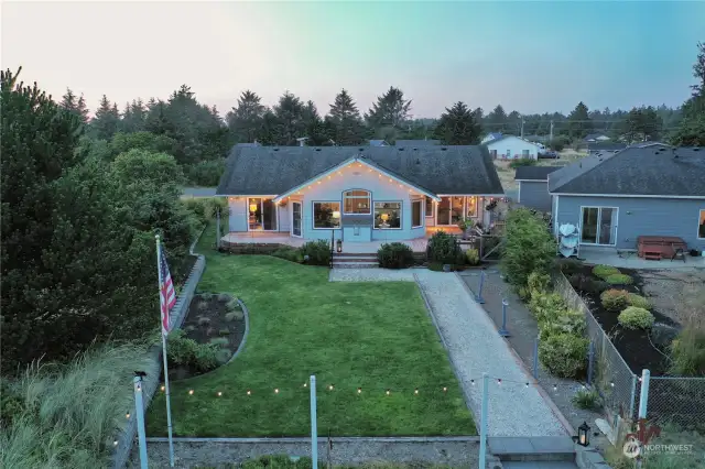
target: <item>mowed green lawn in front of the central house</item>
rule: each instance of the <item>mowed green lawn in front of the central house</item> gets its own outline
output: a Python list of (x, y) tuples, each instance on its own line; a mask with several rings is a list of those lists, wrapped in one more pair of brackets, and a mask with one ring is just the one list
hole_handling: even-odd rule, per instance
[[(175, 435), (307, 435), (311, 374), (321, 435), (476, 433), (415, 284), (329, 283), (326, 268), (217, 253), (214, 236), (210, 227), (199, 243), (207, 263), (198, 290), (240, 297), (250, 331), (231, 363), (172, 383)], [(166, 434), (163, 397), (158, 392), (148, 412), (151, 436)]]

